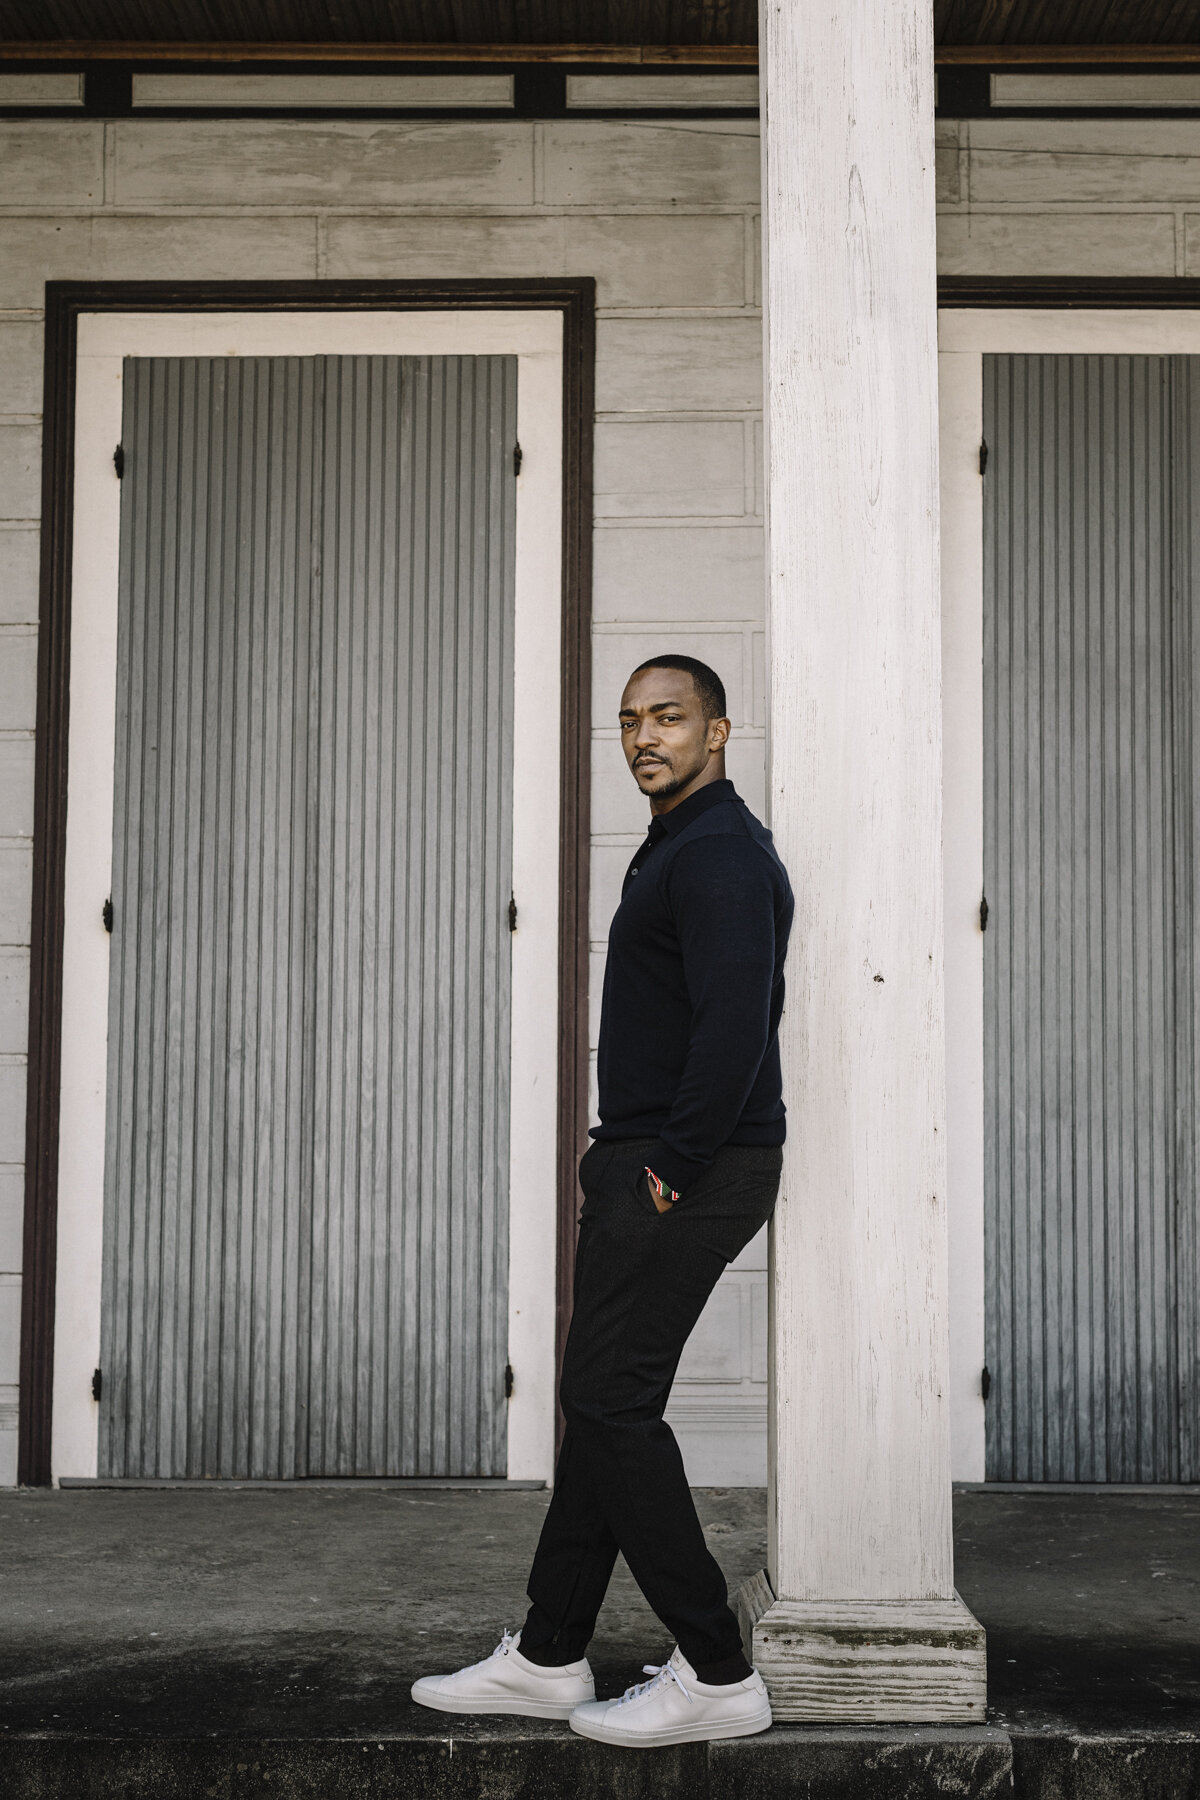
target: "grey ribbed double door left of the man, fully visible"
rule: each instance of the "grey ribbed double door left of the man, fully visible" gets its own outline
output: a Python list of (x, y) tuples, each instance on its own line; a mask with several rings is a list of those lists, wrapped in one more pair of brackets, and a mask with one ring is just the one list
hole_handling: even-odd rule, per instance
[(103, 1472), (504, 1472), (515, 436), (126, 364)]

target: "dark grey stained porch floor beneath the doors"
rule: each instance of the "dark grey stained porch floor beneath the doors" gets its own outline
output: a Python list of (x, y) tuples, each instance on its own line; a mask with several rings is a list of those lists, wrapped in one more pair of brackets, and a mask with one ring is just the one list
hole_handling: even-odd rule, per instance
[[(545, 1505), (428, 1489), (4, 1494), (0, 1732), (444, 1735), (408, 1685), (516, 1629)], [(761, 1492), (698, 1505), (730, 1586), (763, 1566)], [(1200, 1732), (1200, 1496), (968, 1492), (955, 1528), (995, 1724)], [(619, 1566), (597, 1690), (667, 1649)], [(459, 1721), (473, 1732), (495, 1721)]]

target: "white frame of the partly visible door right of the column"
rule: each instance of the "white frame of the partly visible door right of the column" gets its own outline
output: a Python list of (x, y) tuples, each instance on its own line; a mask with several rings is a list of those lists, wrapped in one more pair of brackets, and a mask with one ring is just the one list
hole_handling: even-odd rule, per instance
[(943, 832), (950, 1435), (955, 1481), (984, 1480), (984, 504), (986, 355), (1196, 356), (1200, 311), (943, 308), (941, 400)]

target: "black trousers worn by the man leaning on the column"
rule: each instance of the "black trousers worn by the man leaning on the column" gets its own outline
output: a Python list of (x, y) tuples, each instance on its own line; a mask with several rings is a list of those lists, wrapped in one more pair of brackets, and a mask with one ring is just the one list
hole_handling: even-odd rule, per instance
[(651, 1139), (579, 1163), (576, 1301), (563, 1359), (567, 1433), (529, 1575), (522, 1649), (585, 1654), (617, 1552), (687, 1661), (741, 1651), (662, 1413), (684, 1345), (727, 1262), (770, 1217), (783, 1152), (727, 1145), (669, 1213), (646, 1181)]

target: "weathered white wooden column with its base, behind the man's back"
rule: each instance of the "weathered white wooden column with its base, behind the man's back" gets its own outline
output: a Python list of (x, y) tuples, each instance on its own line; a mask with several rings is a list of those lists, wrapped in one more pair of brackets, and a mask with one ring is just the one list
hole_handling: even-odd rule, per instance
[[(761, 7), (779, 1717), (982, 1719), (954, 1591), (932, 0)], [(765, 1595), (761, 1595), (765, 1598)]]

